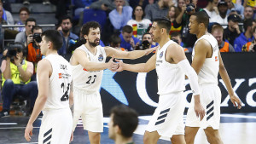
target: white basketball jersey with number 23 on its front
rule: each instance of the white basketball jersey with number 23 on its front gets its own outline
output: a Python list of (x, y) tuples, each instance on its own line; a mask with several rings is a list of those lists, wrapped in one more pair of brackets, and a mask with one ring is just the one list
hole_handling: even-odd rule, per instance
[[(96, 46), (96, 55), (91, 54), (84, 44), (81, 45), (78, 49), (84, 50), (91, 62), (105, 63), (106, 61), (105, 49), (100, 45)], [(100, 89), (102, 84), (103, 70), (87, 71), (83, 66), (79, 64), (77, 66), (72, 66), (72, 73), (73, 85), (75, 88), (84, 89), (88, 93), (93, 93)]]

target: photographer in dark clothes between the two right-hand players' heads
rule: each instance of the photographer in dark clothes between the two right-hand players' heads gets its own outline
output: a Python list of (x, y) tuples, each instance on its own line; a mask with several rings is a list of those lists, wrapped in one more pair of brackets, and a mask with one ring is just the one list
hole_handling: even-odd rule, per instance
[[(190, 2), (190, 1), (189, 1)], [(194, 2), (195, 3), (195, 2)], [(182, 41), (183, 47), (192, 49), (194, 43), (196, 41), (196, 36), (194, 34), (189, 33), (189, 18), (191, 14), (195, 14), (195, 12), (202, 11), (203, 9), (197, 8), (194, 3), (189, 3), (187, 6), (183, 6), (181, 13), (177, 15), (177, 18), (173, 20), (173, 27), (177, 28), (182, 26)]]

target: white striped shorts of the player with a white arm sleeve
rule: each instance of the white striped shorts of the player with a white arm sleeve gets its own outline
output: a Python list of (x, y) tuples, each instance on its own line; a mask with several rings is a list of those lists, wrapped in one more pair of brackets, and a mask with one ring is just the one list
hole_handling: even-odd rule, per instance
[(186, 98), (182, 92), (160, 95), (158, 107), (150, 119), (147, 131), (157, 131), (159, 135), (172, 137), (184, 135), (183, 112)]

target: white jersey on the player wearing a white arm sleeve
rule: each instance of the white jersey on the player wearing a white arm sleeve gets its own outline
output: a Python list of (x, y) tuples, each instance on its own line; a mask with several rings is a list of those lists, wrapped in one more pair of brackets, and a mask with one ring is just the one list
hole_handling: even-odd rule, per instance
[(185, 73), (177, 64), (171, 64), (166, 61), (166, 49), (172, 43), (175, 42), (168, 41), (162, 48), (158, 49), (156, 54), (155, 70), (158, 77), (159, 95), (166, 95), (185, 89)]

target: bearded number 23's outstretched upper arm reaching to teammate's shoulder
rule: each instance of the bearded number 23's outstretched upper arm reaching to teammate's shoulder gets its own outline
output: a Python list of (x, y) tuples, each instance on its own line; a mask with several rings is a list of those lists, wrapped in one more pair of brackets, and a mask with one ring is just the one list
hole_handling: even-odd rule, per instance
[(112, 56), (114, 55), (116, 58), (119, 59), (137, 59), (140, 57), (143, 57), (144, 55), (150, 54), (152, 51), (156, 49), (150, 48), (150, 49), (145, 49), (145, 50), (134, 50), (134, 51), (121, 51), (118, 49), (113, 49), (112, 47), (104, 47), (106, 51), (107, 56)]

